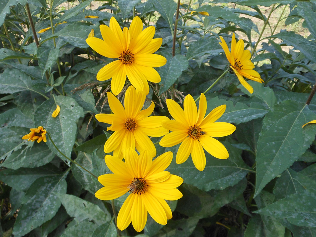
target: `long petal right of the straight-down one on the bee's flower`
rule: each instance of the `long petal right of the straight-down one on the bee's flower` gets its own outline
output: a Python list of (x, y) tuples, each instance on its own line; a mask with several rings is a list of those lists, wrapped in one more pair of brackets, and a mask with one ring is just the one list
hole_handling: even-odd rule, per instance
[(154, 219), (154, 221), (161, 225), (167, 224), (166, 212), (162, 208), (160, 202), (158, 202), (157, 198), (151, 195), (148, 191), (143, 193), (141, 197), (149, 215)]

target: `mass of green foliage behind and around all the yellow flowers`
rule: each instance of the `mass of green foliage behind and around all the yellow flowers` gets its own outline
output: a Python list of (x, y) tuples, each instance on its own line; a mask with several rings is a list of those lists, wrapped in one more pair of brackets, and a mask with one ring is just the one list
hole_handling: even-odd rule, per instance
[[(176, 20), (173, 0), (0, 1), (0, 236), (316, 235), (316, 125), (302, 128), (316, 119), (316, 100), (307, 100), (316, 78), (316, 3), (229, 2), (185, 1)], [(191, 15), (192, 10), (197, 13)], [(276, 11), (282, 14), (272, 23)], [(112, 16), (128, 27), (135, 15), (145, 26), (155, 25), (155, 38), (163, 39), (157, 53), (167, 58), (156, 69), (161, 82), (149, 85), (148, 105), (155, 101), (155, 115), (168, 116), (166, 98), (198, 96), (227, 69), (219, 35), (226, 42), (232, 32), (244, 39), (265, 82), (248, 81), (254, 89), (249, 94), (236, 75), (226, 74), (206, 94), (207, 113), (226, 104), (219, 121), (237, 127), (233, 135), (219, 139), (228, 149), (227, 160), (206, 153), (200, 172), (191, 159), (175, 163), (179, 146), (156, 145), (157, 155), (173, 152), (167, 170), (184, 179), (179, 187), (183, 197), (168, 202), (173, 218), (167, 225), (149, 216), (140, 234), (131, 226), (117, 232), (113, 213), (126, 195), (114, 200), (114, 209), (111, 201), (94, 197), (102, 185), (91, 173), (110, 172), (103, 151), (110, 134), (94, 118), (110, 113), (110, 81), (99, 82), (96, 74), (112, 59), (85, 42), (91, 29), (101, 38), (99, 26), (108, 25)], [(290, 25), (300, 19), (309, 30), (307, 38), (276, 31), (281, 21)], [(129, 85), (127, 81), (125, 90)], [(57, 105), (60, 113), (52, 118)], [(38, 126), (54, 143), (48, 137), (46, 143), (21, 140)]]

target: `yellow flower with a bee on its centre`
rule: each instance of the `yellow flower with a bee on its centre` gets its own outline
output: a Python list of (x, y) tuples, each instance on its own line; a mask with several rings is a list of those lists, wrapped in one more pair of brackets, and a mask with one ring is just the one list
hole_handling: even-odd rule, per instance
[(172, 152), (158, 156), (154, 161), (142, 152), (129, 149), (125, 162), (111, 155), (105, 156), (106, 166), (113, 172), (98, 177), (104, 185), (95, 193), (101, 200), (112, 200), (130, 191), (117, 217), (117, 226), (124, 230), (131, 222), (134, 229), (142, 231), (147, 212), (161, 225), (167, 224), (172, 212), (165, 200), (178, 200), (182, 193), (176, 189), (183, 179), (164, 171), (172, 161)]

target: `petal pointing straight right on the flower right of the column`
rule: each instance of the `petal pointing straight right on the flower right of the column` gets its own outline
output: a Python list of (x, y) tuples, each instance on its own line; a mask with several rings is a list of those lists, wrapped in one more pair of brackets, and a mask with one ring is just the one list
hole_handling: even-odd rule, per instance
[(230, 123), (217, 122), (206, 124), (201, 129), (206, 132), (205, 135), (207, 136), (225, 137), (232, 134), (236, 130), (236, 127)]

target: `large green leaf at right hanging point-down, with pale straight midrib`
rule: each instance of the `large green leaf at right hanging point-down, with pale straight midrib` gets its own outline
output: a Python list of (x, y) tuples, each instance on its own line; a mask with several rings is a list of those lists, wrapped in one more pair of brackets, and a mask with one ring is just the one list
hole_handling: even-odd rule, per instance
[(258, 140), (255, 196), (309, 148), (316, 131), (302, 125), (314, 118), (306, 104), (294, 100), (282, 101), (267, 113)]

